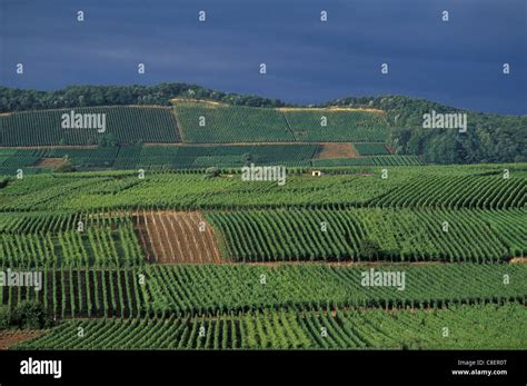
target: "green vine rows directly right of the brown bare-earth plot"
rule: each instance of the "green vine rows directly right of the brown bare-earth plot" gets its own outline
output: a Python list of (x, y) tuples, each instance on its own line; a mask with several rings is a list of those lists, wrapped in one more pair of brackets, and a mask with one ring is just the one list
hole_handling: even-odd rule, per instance
[(496, 261), (527, 251), (527, 212), (520, 209), (287, 209), (206, 216), (235, 261)]

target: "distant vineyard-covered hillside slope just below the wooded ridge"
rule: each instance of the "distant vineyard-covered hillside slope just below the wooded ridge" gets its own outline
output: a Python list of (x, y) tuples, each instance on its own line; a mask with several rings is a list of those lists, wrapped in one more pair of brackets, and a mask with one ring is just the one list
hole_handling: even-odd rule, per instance
[(420, 164), (391, 155), (382, 110), (172, 102), (4, 113), (0, 174), (43, 172), (64, 158), (79, 170)]

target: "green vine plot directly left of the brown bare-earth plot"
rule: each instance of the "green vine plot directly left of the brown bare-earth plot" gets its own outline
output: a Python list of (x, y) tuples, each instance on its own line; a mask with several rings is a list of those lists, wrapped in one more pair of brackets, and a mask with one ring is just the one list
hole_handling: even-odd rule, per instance
[[(0, 215), (0, 266), (130, 267), (143, 264), (131, 217)], [(82, 224), (82, 228), (78, 228)]]

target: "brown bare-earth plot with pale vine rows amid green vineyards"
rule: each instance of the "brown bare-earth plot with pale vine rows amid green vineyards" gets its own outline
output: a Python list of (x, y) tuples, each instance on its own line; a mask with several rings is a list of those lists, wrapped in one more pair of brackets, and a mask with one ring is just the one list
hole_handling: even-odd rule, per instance
[(136, 224), (150, 263), (222, 263), (216, 234), (199, 211), (142, 211)]

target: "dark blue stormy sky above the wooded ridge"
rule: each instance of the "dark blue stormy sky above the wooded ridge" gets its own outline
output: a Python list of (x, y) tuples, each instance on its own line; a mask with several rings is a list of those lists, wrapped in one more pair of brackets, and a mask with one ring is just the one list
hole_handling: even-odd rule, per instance
[(16, 88), (176, 81), (301, 105), (405, 95), (527, 115), (527, 1), (0, 0), (0, 66)]

